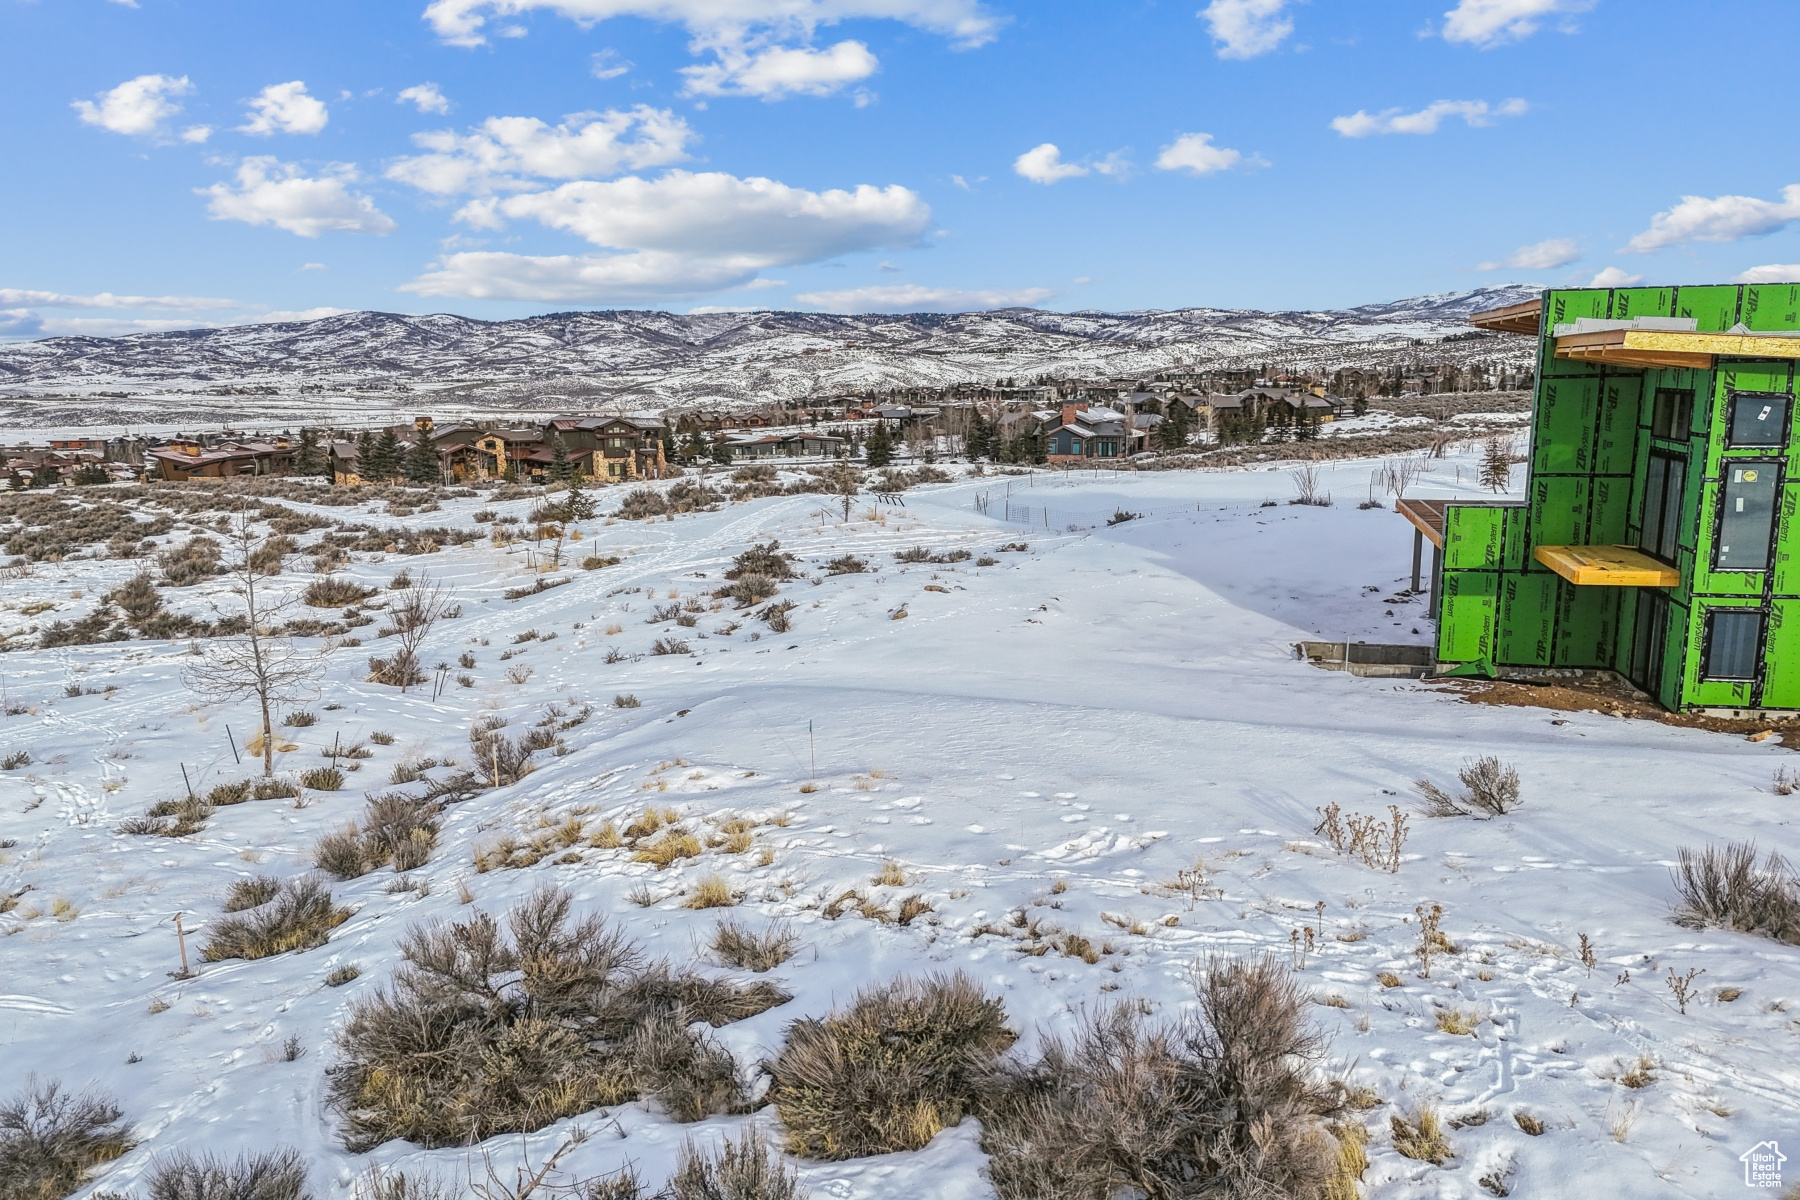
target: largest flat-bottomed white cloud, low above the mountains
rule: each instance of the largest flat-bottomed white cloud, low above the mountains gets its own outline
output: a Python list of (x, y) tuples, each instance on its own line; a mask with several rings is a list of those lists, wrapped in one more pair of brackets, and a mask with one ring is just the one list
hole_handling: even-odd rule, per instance
[(931, 209), (898, 185), (814, 193), (765, 178), (670, 171), (657, 180), (581, 180), (477, 200), (457, 218), (481, 228), (535, 219), (614, 254), (450, 254), (405, 291), (520, 300), (706, 295), (747, 286), (770, 266), (916, 245)]

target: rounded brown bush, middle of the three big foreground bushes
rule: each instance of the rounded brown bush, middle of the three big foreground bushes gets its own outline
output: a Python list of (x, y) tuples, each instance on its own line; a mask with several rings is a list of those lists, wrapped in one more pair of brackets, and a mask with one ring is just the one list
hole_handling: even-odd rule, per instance
[(895, 981), (842, 1013), (788, 1025), (769, 1097), (794, 1153), (920, 1150), (970, 1112), (1013, 1042), (1006, 1009), (968, 977)]

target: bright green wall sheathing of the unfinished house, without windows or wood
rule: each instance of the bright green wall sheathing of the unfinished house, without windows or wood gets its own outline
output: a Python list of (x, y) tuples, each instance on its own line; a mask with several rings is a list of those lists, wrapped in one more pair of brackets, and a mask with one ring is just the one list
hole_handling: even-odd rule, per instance
[[(1681, 585), (1660, 588), (1669, 622), (1656, 696), (1681, 707), (1800, 709), (1800, 443), (1726, 450), (1733, 392), (1793, 396), (1784, 360), (1719, 360), (1715, 369), (1625, 369), (1555, 358), (1553, 329), (1582, 317), (1690, 317), (1705, 333), (1800, 329), (1800, 286), (1579, 288), (1544, 293), (1532, 450), (1521, 506), (1449, 506), (1444, 525), (1438, 660), (1631, 673), (1640, 588), (1575, 587), (1532, 558), (1535, 545), (1638, 545), (1651, 450), (1685, 461), (1676, 533)], [(1652, 439), (1658, 389), (1694, 394), (1687, 430)], [(1796, 414), (1800, 416), (1800, 414)], [(1795, 421), (1793, 425), (1800, 425)], [(1732, 459), (1778, 461), (1775, 552), (1768, 572), (1710, 569)], [(1760, 684), (1703, 680), (1706, 615), (1768, 613)]]

